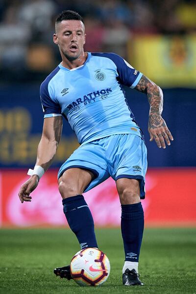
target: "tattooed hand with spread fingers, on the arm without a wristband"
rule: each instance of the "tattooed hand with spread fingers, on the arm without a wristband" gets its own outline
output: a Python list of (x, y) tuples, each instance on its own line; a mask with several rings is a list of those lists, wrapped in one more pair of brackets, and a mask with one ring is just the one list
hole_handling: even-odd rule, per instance
[(160, 113), (149, 113), (148, 132), (150, 142), (154, 139), (159, 148), (163, 147), (165, 149), (165, 142), (169, 146), (171, 145), (170, 140), (173, 141), (172, 134)]

